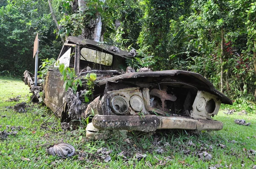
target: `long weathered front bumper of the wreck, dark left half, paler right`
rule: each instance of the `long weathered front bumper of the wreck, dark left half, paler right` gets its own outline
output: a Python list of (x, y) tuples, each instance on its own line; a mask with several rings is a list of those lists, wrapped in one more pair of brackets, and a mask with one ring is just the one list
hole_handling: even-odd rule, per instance
[(220, 121), (193, 119), (190, 117), (166, 117), (157, 115), (95, 115), (93, 126), (99, 130), (137, 130), (143, 132), (157, 129), (221, 130)]

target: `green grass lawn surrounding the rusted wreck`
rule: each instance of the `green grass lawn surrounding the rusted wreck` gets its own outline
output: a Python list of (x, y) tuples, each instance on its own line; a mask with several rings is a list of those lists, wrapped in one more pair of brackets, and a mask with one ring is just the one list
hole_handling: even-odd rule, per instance
[[(46, 107), (38, 104), (29, 104), (28, 112), (17, 113), (6, 106), (14, 106), (19, 102), (6, 102), (7, 99), (20, 95), (20, 101), (30, 101), (29, 88), (21, 80), (0, 78), (0, 131), (6, 130), (6, 125), (23, 126), (16, 136), (9, 135), (7, 139), (0, 140), (0, 168), (205, 168), (221, 165), (223, 168), (252, 168), (256, 165), (255, 155), (248, 150), (256, 150), (256, 115), (226, 115), (219, 112), (215, 120), (224, 123), (221, 131), (191, 132), (185, 130), (156, 131), (154, 133), (129, 132), (128, 139), (118, 138), (92, 141), (85, 137), (84, 128), (75, 131), (63, 132), (58, 119), (52, 117), (47, 125), (42, 123), (49, 117)], [(246, 107), (246, 105), (243, 105)], [(251, 105), (247, 105), (251, 106)], [(253, 107), (254, 108), (254, 107)], [(46, 115), (44, 117), (44, 115)], [(235, 119), (243, 118), (250, 122), (250, 126), (240, 126), (234, 123)], [(6, 131), (10, 132), (10, 129)], [(231, 142), (235, 140), (236, 142)], [(35, 146), (47, 143), (67, 142), (79, 151), (71, 158), (60, 158), (47, 155), (45, 148)], [(190, 145), (192, 141), (194, 145)], [(218, 144), (224, 144), (221, 148)], [(98, 153), (102, 147), (112, 150), (109, 154), (111, 161), (105, 162), (107, 155)], [(163, 149), (163, 153), (157, 153)], [(128, 152), (126, 159), (118, 154)], [(212, 159), (202, 160), (199, 153), (208, 152)], [(138, 161), (136, 153), (147, 155)], [(29, 158), (31, 161), (24, 161)]]

